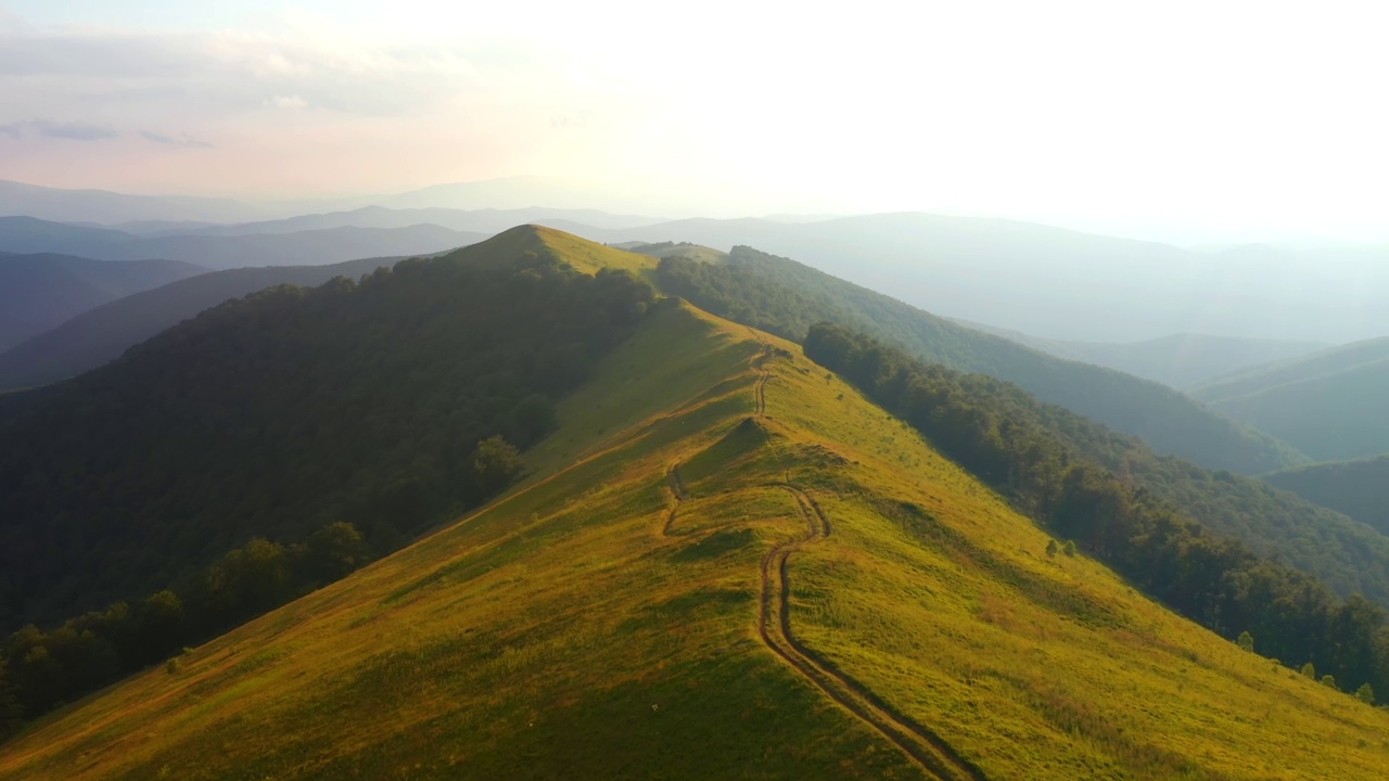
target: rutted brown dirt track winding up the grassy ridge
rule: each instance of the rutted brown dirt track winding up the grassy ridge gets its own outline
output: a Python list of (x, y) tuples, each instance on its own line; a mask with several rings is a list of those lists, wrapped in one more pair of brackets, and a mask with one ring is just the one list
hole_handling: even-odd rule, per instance
[[(772, 347), (764, 343), (763, 354), (753, 361), (753, 367), (758, 372), (757, 382), (753, 385), (754, 414), (757, 417), (764, 417), (767, 411), (765, 386), (771, 372), (767, 371), (765, 363), (771, 357)], [(686, 498), (685, 485), (679, 477), (679, 464), (671, 467), (667, 482), (675, 498), (661, 529), (668, 536), (671, 524)], [(828, 538), (832, 527), (829, 516), (820, 504), (792, 482), (789, 468), (785, 482), (775, 485), (795, 499), (796, 509), (806, 523), (806, 534), (776, 545), (763, 557), (761, 599), (757, 611), (757, 634), (763, 645), (814, 684), (825, 696), (901, 749), (926, 774), (949, 781), (988, 781), (988, 775), (979, 766), (960, 756), (940, 735), (895, 710), (871, 689), (850, 678), (796, 638), (790, 623), (790, 556), (806, 545)]]

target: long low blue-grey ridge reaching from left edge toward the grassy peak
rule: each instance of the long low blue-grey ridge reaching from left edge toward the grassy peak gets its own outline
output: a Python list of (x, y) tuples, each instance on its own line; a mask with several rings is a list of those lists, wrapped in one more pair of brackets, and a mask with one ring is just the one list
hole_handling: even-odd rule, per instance
[(483, 233), (438, 225), (407, 228), (328, 228), (281, 235), (135, 236), (111, 229), (0, 217), (0, 247), (60, 252), (101, 260), (160, 257), (215, 270), (251, 265), (319, 265), (360, 257), (429, 254), (485, 239)]

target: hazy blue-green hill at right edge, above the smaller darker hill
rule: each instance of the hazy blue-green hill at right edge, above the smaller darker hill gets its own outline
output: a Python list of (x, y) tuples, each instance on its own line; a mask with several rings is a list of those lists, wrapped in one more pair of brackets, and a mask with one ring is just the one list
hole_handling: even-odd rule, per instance
[(1190, 393), (1321, 461), (1389, 452), (1389, 338), (1258, 365)]

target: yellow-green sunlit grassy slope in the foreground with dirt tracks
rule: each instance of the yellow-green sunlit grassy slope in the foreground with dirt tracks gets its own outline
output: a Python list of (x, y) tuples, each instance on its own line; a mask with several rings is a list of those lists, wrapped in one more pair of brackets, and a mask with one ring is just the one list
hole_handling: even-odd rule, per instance
[(0, 746), (4, 778), (1379, 778), (1389, 718), (658, 307), (493, 506)]

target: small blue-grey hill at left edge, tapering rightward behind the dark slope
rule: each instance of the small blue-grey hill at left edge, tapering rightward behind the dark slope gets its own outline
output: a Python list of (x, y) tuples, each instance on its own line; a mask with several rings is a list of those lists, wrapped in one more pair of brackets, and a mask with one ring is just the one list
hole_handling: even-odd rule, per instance
[(65, 254), (0, 256), (0, 350), (107, 302), (207, 272), (190, 263), (110, 263)]

